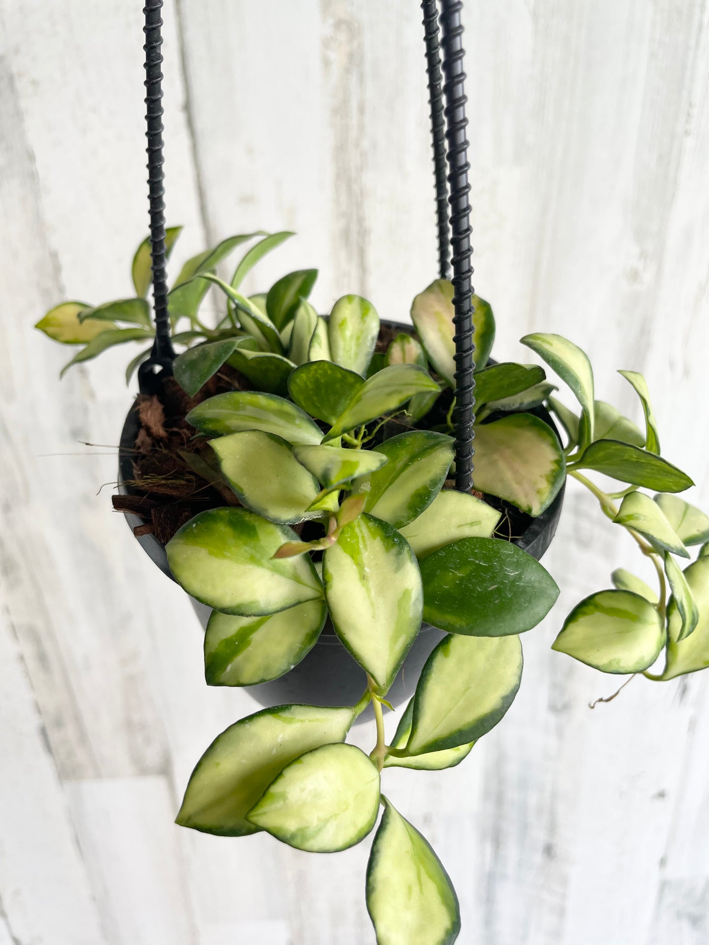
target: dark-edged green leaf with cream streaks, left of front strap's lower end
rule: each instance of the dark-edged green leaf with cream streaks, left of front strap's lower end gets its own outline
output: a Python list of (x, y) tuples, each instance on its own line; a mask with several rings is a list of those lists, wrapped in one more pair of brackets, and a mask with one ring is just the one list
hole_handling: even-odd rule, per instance
[(389, 462), (358, 482), (355, 492), (366, 493), (365, 511), (401, 528), (441, 491), (453, 462), (453, 440), (430, 430), (412, 430), (386, 439), (377, 452)]

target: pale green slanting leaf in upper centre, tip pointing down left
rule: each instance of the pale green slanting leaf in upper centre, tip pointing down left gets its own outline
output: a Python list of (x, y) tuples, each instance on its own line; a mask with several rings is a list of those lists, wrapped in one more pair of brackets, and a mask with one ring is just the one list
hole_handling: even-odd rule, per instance
[(441, 388), (418, 365), (395, 364), (383, 368), (365, 381), (337, 418), (325, 439), (335, 439), (355, 426), (361, 426), (404, 406), (414, 394)]

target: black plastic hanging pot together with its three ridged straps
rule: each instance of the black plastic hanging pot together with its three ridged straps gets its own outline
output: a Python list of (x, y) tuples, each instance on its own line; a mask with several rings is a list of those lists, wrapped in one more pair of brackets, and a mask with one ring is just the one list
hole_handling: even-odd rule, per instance
[[(435, 0), (424, 0), (424, 38), (431, 106), (431, 129), (436, 180), (438, 217), (439, 274), (448, 279), (452, 268), (455, 289), (453, 304), (456, 326), (456, 489), (470, 492), (474, 489), (474, 429), (475, 421), (475, 345), (473, 325), (473, 286), (471, 283), (472, 247), (470, 243), (470, 204), (468, 184), (465, 117), (466, 97), (463, 91), (462, 26), (460, 3), (446, 5), (441, 15), (442, 64), (439, 46), (439, 14)], [(138, 373), (141, 394), (154, 394), (172, 374), (175, 352), (170, 339), (170, 321), (167, 313), (165, 273), (165, 221), (163, 172), (163, 106), (162, 106), (162, 0), (147, 0), (146, 13), (146, 104), (147, 155), (150, 207), (150, 239), (153, 272), (154, 315), (156, 335), (152, 352)], [(441, 81), (442, 68), (442, 81)], [(443, 104), (445, 100), (445, 105)], [(447, 146), (446, 146), (447, 142)], [(447, 164), (447, 169), (446, 169)], [(450, 215), (448, 210), (450, 207)], [(450, 259), (450, 263), (449, 263)], [(410, 325), (382, 322), (389, 330), (411, 333)], [(137, 403), (130, 408), (120, 439), (119, 491), (138, 494), (130, 487), (133, 478), (132, 457), (140, 430)], [(554, 423), (544, 407), (527, 410), (545, 421), (555, 433)], [(494, 415), (491, 417), (494, 419)], [(553, 503), (537, 518), (531, 518), (515, 509), (515, 528), (510, 528), (513, 541), (534, 558), (542, 558), (556, 532), (562, 510), (563, 489)], [(511, 508), (511, 507), (510, 507)], [(135, 514), (126, 512), (131, 528), (142, 524)], [(149, 558), (172, 577), (162, 544), (153, 534), (141, 534), (136, 540)], [(210, 609), (192, 599), (202, 627)], [(443, 634), (436, 627), (422, 624), (414, 644), (406, 656), (399, 674), (389, 690), (392, 705), (401, 704), (411, 696), (421, 674), (424, 662)], [(353, 704), (366, 686), (366, 675), (340, 644), (328, 619), (318, 643), (302, 662), (285, 676), (270, 682), (247, 687), (252, 696), (263, 705), (305, 702), (316, 705)], [(363, 717), (363, 716), (361, 716)]]

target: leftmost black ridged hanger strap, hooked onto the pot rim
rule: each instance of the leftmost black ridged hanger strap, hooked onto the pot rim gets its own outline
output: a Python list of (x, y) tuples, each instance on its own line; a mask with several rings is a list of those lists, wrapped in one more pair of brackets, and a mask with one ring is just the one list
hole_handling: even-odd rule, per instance
[[(167, 273), (165, 269), (164, 229), (164, 157), (163, 157), (163, 0), (146, 0), (146, 122), (147, 122), (147, 185), (150, 203), (150, 255), (152, 257), (152, 290), (155, 314), (155, 341), (152, 352), (139, 370), (141, 390), (152, 377), (172, 374), (175, 351), (170, 340), (170, 319), (167, 314)], [(157, 370), (156, 370), (157, 369)]]

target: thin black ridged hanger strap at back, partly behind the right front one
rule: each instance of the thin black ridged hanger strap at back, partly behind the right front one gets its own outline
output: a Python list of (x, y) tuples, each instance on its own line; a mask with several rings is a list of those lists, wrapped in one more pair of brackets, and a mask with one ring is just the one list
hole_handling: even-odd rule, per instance
[(423, 0), (424, 39), (428, 101), (431, 107), (431, 142), (436, 180), (436, 220), (439, 231), (439, 275), (450, 279), (450, 232), (448, 229), (448, 184), (445, 166), (445, 124), (441, 89), (441, 45), (439, 43), (439, 11), (436, 0)]

